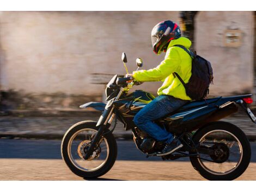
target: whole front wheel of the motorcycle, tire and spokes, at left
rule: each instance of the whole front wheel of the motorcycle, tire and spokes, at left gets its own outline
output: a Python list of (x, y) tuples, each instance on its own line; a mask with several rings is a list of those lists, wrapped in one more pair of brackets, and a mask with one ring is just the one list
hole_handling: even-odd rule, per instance
[(108, 130), (100, 144), (87, 160), (84, 160), (87, 149), (97, 133), (94, 121), (76, 123), (65, 133), (62, 140), (62, 158), (70, 170), (84, 178), (96, 178), (107, 173), (117, 158), (117, 143)]

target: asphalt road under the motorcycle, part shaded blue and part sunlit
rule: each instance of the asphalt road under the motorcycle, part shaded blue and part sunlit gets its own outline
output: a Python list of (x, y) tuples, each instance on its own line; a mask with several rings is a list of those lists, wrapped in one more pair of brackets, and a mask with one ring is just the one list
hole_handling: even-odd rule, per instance
[[(256, 143), (252, 159), (237, 180), (256, 180)], [(0, 180), (83, 180), (74, 175), (60, 155), (60, 141), (0, 139)], [(114, 167), (96, 180), (205, 180), (186, 158), (162, 161), (146, 158), (132, 141), (118, 141)]]

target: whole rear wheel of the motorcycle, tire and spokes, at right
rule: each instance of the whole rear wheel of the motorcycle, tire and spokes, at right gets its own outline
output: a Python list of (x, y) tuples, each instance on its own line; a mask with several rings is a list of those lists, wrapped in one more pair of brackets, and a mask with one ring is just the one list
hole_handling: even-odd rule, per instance
[(191, 164), (208, 180), (234, 180), (251, 160), (251, 146), (245, 133), (227, 122), (205, 126), (196, 132), (193, 141), (202, 152), (198, 157), (190, 157)]

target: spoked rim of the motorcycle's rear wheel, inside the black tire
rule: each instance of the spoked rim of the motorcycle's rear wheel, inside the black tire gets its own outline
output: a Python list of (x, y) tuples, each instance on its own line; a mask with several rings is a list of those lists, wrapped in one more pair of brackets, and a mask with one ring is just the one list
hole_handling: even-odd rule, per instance
[[(199, 154), (198, 158), (200, 165), (209, 173), (214, 175), (226, 175), (239, 167), (242, 161), (243, 149), (239, 139), (233, 133), (225, 130), (213, 130), (202, 136), (199, 143), (200, 146), (203, 145), (214, 148), (214, 155), (216, 156)], [(227, 147), (228, 150), (225, 149), (225, 147)], [(209, 162), (203, 160), (203, 158), (211, 161), (217, 158), (219, 161)], [(224, 160), (221, 161), (221, 159)]]

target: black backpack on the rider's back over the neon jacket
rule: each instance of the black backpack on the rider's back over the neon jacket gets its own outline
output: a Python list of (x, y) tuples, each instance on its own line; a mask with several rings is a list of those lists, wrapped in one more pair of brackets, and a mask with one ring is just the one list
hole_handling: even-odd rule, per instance
[(197, 55), (196, 52), (192, 53), (187, 50), (184, 46), (175, 45), (184, 49), (192, 58), (192, 69), (191, 77), (187, 84), (181, 79), (178, 73), (174, 72), (174, 77), (178, 77), (181, 83), (184, 85), (186, 94), (193, 100), (201, 100), (209, 94), (209, 86), (213, 84), (214, 76), (212, 75), (211, 63), (201, 56)]

